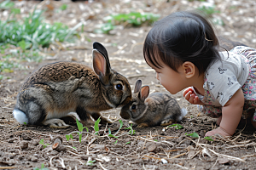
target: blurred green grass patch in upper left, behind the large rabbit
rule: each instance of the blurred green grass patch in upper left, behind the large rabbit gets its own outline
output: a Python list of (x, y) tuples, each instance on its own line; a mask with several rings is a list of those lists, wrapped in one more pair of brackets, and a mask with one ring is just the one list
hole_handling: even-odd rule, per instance
[[(44, 22), (44, 10), (33, 10), (22, 20), (16, 19), (20, 8), (14, 8), (15, 3), (10, 0), (0, 3), (0, 9), (9, 10), (7, 20), (0, 20), (0, 80), (2, 72), (13, 72), (21, 68), (22, 61), (40, 62), (43, 57), (40, 48), (48, 48), (55, 42), (73, 41), (77, 33), (60, 22), (47, 24)], [(66, 4), (61, 10), (67, 8)]]

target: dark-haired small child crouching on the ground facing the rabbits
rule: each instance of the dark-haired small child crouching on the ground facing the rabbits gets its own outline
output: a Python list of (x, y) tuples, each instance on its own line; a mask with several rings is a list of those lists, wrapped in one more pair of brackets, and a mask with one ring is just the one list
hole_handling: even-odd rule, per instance
[[(171, 94), (183, 90), (219, 127), (206, 136), (232, 136), (241, 117), (256, 127), (256, 49), (238, 46), (218, 52), (210, 23), (199, 14), (176, 12), (154, 23), (143, 55)], [(188, 88), (189, 87), (189, 88)]]

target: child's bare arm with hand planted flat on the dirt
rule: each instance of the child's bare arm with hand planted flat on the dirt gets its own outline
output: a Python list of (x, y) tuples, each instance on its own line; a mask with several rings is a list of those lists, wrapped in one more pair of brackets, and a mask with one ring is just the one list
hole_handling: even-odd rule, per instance
[(219, 127), (206, 133), (206, 136), (212, 136), (219, 133), (223, 136), (230, 136), (236, 132), (236, 127), (241, 120), (243, 111), (244, 96), (241, 88), (222, 108), (222, 119)]

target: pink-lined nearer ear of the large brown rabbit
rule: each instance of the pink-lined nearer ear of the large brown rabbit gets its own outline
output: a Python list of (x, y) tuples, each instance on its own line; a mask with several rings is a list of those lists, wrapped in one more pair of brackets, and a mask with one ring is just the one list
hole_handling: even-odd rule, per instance
[(108, 84), (109, 82), (109, 74), (110, 74), (110, 66), (108, 65), (107, 59), (100, 53), (98, 50), (92, 50), (93, 57), (93, 69), (96, 74), (99, 76), (101, 82), (103, 84)]

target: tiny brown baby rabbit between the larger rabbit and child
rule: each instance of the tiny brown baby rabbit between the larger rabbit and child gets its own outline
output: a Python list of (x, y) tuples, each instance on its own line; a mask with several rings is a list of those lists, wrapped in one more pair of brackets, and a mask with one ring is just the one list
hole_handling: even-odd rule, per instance
[(120, 116), (137, 123), (137, 127), (167, 126), (179, 122), (187, 114), (170, 94), (149, 94), (149, 87), (137, 80), (131, 101), (122, 107)]

